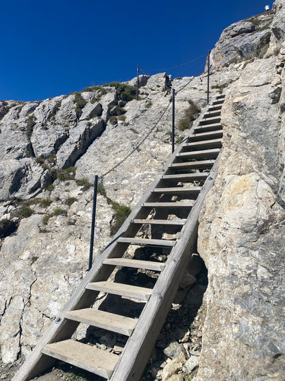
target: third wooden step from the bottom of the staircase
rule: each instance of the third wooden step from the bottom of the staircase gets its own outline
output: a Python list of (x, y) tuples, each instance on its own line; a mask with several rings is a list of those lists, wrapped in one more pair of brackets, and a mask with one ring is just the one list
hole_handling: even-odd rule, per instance
[(148, 301), (152, 292), (151, 288), (130, 286), (129, 284), (115, 283), (112, 281), (88, 283), (86, 288), (88, 290), (108, 292), (109, 294), (121, 295), (121, 297), (134, 298), (143, 301)]

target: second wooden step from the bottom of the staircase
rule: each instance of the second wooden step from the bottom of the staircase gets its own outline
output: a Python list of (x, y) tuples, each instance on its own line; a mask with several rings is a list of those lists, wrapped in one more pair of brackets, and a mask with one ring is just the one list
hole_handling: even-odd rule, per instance
[(94, 310), (93, 308), (70, 311), (65, 315), (65, 318), (125, 336), (131, 336), (137, 322), (136, 319), (111, 314), (110, 312)]

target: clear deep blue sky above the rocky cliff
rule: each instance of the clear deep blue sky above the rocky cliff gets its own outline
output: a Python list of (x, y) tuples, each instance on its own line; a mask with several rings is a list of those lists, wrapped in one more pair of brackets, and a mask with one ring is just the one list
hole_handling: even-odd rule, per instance
[[(14, 0), (1, 3), (0, 99), (43, 100), (129, 80), (212, 49), (263, 0)], [(191, 76), (201, 65), (168, 71)]]

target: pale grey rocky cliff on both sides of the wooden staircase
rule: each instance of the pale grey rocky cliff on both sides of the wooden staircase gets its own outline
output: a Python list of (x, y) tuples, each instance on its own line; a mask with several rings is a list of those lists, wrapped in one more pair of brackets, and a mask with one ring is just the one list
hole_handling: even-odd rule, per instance
[[(153, 379), (282, 380), (284, 12), (277, 0), (273, 11), (230, 25), (211, 52), (212, 93), (224, 91), (226, 99), (219, 176), (199, 226), (209, 284), (196, 325), (181, 332), (177, 316), (166, 323), (157, 346), (166, 362), (150, 368)], [(1, 102), (3, 362), (27, 356), (86, 273), (94, 175), (106, 174), (99, 255), (116, 223), (114, 205), (134, 206), (171, 153), (166, 84), (182, 89), (177, 120), (188, 100), (205, 106), (206, 76), (190, 79), (141, 76), (138, 101), (130, 81), (42, 102)], [(205, 316), (201, 334), (197, 321)]]

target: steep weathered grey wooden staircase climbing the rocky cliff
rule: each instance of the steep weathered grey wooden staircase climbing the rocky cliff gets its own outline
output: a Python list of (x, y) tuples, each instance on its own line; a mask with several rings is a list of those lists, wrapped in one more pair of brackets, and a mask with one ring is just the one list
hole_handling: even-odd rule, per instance
[[(223, 100), (224, 96), (219, 95), (208, 104), (14, 381), (30, 380), (56, 359), (112, 381), (140, 379), (193, 253), (199, 213), (219, 167)], [(142, 229), (147, 229), (149, 236), (142, 238)], [(165, 233), (169, 233), (166, 239)], [(126, 251), (132, 245), (145, 247), (149, 257), (136, 258), (136, 251), (134, 257), (127, 257)], [(160, 259), (166, 254), (164, 263)], [(110, 281), (110, 276), (114, 278), (121, 268), (151, 272), (153, 286), (128, 284), (132, 282), (116, 281), (116, 277)], [(125, 299), (145, 306), (137, 316), (124, 316), (123, 307), (119, 314), (104, 310), (103, 303), (95, 309), (99, 292), (106, 293), (106, 300), (117, 295), (110, 302), (112, 305), (116, 298), (116, 310)], [(121, 356), (111, 349), (74, 340), (72, 336), (81, 323), (124, 335)]]

